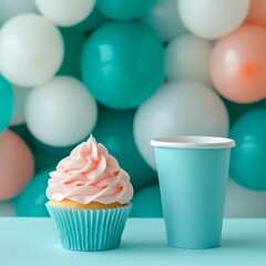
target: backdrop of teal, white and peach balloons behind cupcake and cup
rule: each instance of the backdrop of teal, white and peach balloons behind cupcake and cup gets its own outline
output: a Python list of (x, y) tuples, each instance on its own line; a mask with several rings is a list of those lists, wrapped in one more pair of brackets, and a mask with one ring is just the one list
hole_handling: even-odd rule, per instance
[(49, 171), (91, 133), (161, 216), (150, 140), (232, 136), (266, 191), (266, 1), (0, 0), (0, 201), (45, 216)]

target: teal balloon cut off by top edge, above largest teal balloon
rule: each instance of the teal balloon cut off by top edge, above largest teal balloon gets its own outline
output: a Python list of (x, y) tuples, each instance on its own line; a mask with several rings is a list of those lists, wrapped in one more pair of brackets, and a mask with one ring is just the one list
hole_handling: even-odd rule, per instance
[(98, 9), (115, 20), (131, 20), (141, 17), (156, 0), (98, 0)]

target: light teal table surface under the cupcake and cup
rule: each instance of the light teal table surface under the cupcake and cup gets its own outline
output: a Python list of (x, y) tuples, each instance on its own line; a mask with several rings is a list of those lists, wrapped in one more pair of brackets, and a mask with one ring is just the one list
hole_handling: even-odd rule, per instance
[(120, 248), (82, 253), (61, 247), (50, 218), (0, 217), (0, 265), (265, 266), (266, 219), (225, 219), (221, 247), (193, 250), (166, 245), (162, 218), (130, 218)]

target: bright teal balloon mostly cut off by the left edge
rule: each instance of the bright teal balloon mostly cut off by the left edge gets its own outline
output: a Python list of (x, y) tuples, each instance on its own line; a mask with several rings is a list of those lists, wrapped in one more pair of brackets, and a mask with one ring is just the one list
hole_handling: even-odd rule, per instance
[(8, 126), (13, 115), (13, 91), (8, 81), (0, 75), (0, 133)]

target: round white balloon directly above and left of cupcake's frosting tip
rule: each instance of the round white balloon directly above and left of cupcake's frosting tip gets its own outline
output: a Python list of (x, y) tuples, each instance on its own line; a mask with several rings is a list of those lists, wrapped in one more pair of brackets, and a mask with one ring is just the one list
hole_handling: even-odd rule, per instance
[(52, 146), (72, 145), (89, 135), (98, 117), (96, 102), (82, 82), (55, 76), (32, 90), (25, 105), (30, 132)]

